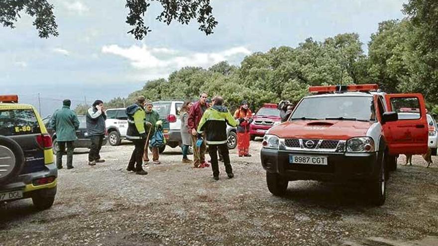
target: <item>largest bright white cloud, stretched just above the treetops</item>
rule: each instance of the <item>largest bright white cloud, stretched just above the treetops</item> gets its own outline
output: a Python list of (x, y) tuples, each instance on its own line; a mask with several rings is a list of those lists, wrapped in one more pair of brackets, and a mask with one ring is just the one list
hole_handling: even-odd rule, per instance
[[(114, 54), (131, 61), (131, 65), (139, 70), (164, 69), (172, 71), (186, 66), (208, 68), (221, 61), (233, 59), (236, 56), (249, 55), (251, 51), (245, 47), (234, 47), (221, 52), (192, 53), (182, 55), (182, 52), (167, 48), (150, 48), (146, 45), (132, 45), (123, 48), (118, 45), (102, 47), (102, 53)], [(165, 56), (163, 56), (165, 55)]]

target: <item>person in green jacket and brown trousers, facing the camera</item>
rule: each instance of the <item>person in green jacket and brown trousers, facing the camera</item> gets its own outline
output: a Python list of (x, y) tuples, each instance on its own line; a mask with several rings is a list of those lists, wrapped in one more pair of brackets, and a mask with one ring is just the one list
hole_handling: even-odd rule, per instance
[[(146, 102), (146, 133), (149, 132), (149, 136), (151, 137), (155, 133), (155, 128), (158, 127), (161, 124), (160, 115), (157, 111), (153, 110), (153, 104), (152, 102)], [(149, 137), (149, 139), (150, 139)], [(149, 140), (146, 142), (146, 146), (144, 148), (144, 155), (143, 155), (143, 161), (147, 164), (149, 162), (149, 156), (148, 156), (148, 150), (149, 150)], [(152, 147), (152, 162), (154, 164), (160, 164), (159, 154), (158, 154), (158, 148)]]

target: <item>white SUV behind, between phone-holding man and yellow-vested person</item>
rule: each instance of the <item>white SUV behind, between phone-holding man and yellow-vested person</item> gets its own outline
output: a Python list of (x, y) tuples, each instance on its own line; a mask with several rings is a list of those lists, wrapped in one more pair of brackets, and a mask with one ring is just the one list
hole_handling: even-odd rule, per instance
[(107, 110), (108, 142), (112, 146), (120, 144), (122, 139), (126, 139), (128, 130), (128, 116), (125, 108), (111, 108)]

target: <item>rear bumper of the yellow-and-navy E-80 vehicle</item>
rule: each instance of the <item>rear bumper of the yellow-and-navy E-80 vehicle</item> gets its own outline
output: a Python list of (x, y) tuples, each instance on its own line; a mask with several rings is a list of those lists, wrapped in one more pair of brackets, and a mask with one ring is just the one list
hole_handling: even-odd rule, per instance
[[(56, 177), (53, 182), (43, 185), (33, 185), (33, 180), (50, 176)], [(22, 190), (23, 198), (21, 199), (32, 197), (32, 195), (36, 193), (47, 193), (45, 194), (46, 196), (54, 196), (56, 194), (57, 182), (58, 168), (56, 168), (55, 164), (47, 164), (44, 170), (18, 175), (8, 184), (0, 186), (0, 192)]]

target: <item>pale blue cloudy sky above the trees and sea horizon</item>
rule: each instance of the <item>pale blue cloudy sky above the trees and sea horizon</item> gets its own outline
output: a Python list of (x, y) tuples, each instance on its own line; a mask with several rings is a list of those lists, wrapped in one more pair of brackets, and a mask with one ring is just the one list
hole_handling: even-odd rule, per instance
[(15, 29), (0, 27), (0, 93), (36, 106), (40, 93), (42, 115), (63, 98), (76, 104), (126, 96), (185, 66), (239, 64), (252, 52), (295, 47), (308, 37), (356, 32), (366, 44), (379, 22), (403, 18), (404, 0), (212, 0), (219, 24), (209, 36), (195, 22), (157, 22), (161, 8), (152, 2), (146, 16), (152, 32), (143, 41), (126, 34), (125, 0), (49, 2), (58, 37), (40, 39), (25, 14)]

